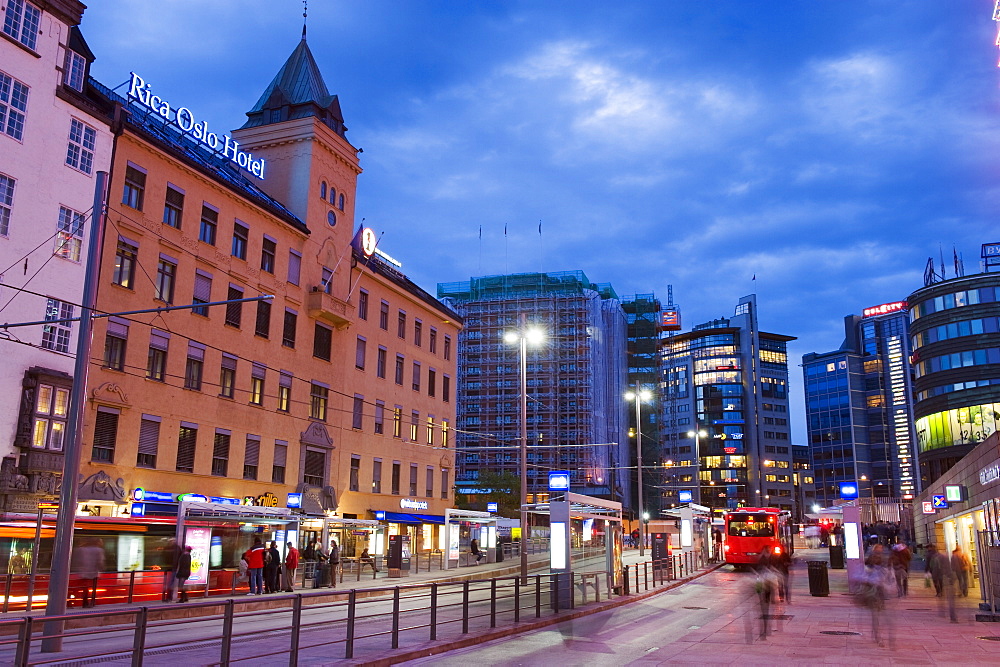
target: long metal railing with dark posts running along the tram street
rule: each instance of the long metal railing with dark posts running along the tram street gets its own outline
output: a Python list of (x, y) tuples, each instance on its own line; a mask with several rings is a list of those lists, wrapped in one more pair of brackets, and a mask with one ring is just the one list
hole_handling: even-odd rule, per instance
[[(170, 652), (179, 663), (230, 665), (287, 656), (289, 665), (329, 657), (345, 659), (384, 655), (418, 642), (441, 641), (558, 615), (577, 604), (595, 602), (601, 592), (630, 595), (682, 579), (702, 567), (694, 552), (626, 566), (623, 585), (610, 588), (604, 572), (535, 574), (430, 582), (357, 589), (331, 599), (329, 593), (306, 591), (265, 599), (230, 598), (180, 605), (139, 606), (85, 611), (60, 617), (0, 621), (0, 663), (18, 667), (63, 660), (145, 657)], [(261, 602), (267, 603), (263, 608)], [(184, 614), (163, 613), (178, 609)], [(45, 635), (43, 620), (59, 622), (58, 634)], [(48, 623), (46, 623), (48, 624)], [(184, 643), (177, 644), (178, 626)], [(50, 626), (52, 627), (52, 626)], [(38, 653), (44, 637), (60, 637), (60, 653)], [(220, 644), (221, 639), (221, 644)], [(211, 655), (206, 658), (206, 652)], [(185, 657), (187, 654), (187, 657)], [(32, 660), (34, 658), (34, 661)]]

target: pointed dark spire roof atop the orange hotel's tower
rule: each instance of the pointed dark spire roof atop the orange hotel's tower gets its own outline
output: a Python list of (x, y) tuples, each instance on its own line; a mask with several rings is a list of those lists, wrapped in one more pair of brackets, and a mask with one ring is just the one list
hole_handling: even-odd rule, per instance
[(257, 104), (247, 112), (247, 122), (243, 127), (270, 125), (308, 116), (315, 116), (342, 137), (347, 132), (340, 101), (326, 87), (303, 33), (298, 46), (264, 89)]

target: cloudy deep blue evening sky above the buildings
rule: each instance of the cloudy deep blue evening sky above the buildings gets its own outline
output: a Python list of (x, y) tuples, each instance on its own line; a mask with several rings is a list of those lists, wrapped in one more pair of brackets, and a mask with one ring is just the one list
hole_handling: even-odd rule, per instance
[[(94, 76), (135, 71), (220, 131), (302, 29), (300, 0), (88, 4)], [(355, 223), (413, 280), (582, 269), (663, 300), (673, 285), (685, 328), (756, 292), (762, 329), (799, 338), (802, 442), (801, 355), (920, 287), (928, 257), (951, 277), (954, 247), (974, 273), (1000, 241), (992, 11), (312, 0), (308, 40), (364, 149)]]

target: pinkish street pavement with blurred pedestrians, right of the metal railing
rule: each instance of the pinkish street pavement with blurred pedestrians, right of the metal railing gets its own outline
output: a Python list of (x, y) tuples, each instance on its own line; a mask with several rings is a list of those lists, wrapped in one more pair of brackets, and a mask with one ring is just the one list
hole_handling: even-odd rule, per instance
[(847, 591), (846, 571), (830, 570), (829, 597), (813, 597), (805, 563), (827, 556), (819, 550), (796, 556), (791, 602), (771, 606), (767, 638), (760, 637), (755, 575), (726, 566), (631, 604), (403, 664), (1000, 664), (1000, 624), (974, 620), (976, 592), (958, 598), (952, 623), (933, 589), (924, 587), (922, 570), (911, 572), (910, 595), (889, 600), (883, 612), (880, 646), (870, 612)]

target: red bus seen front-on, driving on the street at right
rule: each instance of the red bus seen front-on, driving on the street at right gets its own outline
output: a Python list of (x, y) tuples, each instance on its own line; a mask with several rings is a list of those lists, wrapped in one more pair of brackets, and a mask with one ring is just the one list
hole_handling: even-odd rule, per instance
[(726, 563), (755, 565), (764, 547), (771, 553), (792, 553), (791, 513), (776, 507), (741, 507), (725, 514)]

